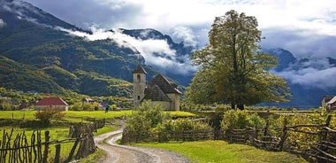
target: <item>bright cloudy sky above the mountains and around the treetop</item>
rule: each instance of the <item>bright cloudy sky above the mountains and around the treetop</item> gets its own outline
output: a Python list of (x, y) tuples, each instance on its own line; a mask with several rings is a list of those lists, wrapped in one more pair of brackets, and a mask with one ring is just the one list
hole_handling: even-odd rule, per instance
[[(335, 0), (23, 0), (77, 27), (154, 28), (175, 43), (202, 48), (215, 17), (235, 10), (255, 16), (265, 49), (283, 48), (296, 58), (336, 58)], [(142, 44), (140, 46), (143, 46)], [(325, 74), (336, 86), (336, 69), (291, 70), (281, 75), (305, 83)], [(317, 80), (318, 82), (318, 80)]]

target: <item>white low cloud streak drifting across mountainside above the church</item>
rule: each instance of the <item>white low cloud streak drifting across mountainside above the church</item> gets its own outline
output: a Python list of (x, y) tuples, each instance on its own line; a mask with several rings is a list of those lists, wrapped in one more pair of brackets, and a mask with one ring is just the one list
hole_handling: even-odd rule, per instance
[(57, 29), (65, 31), (69, 35), (83, 37), (89, 41), (111, 39), (111, 42), (118, 43), (120, 47), (131, 48), (134, 50), (134, 53), (138, 51), (141, 56), (145, 58), (147, 65), (155, 66), (162, 72), (167, 71), (172, 74), (190, 74), (196, 71), (196, 67), (191, 66), (191, 62), (188, 57), (182, 57), (184, 62), (180, 63), (176, 56), (176, 51), (170, 49), (169, 44), (165, 40), (141, 40), (140, 38), (134, 38), (130, 35), (122, 34), (122, 31), (118, 29), (106, 31), (105, 29), (91, 27), (92, 34), (72, 31), (62, 27), (57, 27)]

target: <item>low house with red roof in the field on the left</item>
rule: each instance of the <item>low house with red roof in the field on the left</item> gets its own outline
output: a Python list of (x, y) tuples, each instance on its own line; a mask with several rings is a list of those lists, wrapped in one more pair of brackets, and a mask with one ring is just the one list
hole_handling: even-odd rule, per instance
[(64, 111), (68, 111), (68, 104), (60, 97), (44, 97), (35, 104), (36, 110), (42, 108), (59, 108)]

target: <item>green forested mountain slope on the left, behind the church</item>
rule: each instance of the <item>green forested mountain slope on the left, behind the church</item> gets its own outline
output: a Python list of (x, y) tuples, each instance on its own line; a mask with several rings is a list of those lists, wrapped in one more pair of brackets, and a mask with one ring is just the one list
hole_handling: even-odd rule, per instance
[[(188, 55), (191, 50), (154, 29), (120, 30), (135, 39), (163, 40), (178, 56)], [(40, 92), (71, 89), (93, 96), (130, 97), (132, 71), (139, 63), (145, 64), (139, 51), (131, 43), (120, 45), (117, 39), (89, 40), (68, 31), (92, 35), (32, 4), (0, 0), (0, 57), (5, 61), (0, 65), (0, 87)], [(143, 35), (145, 31), (148, 35)], [(144, 67), (148, 80), (159, 73), (156, 67)], [(181, 74), (167, 75), (185, 84), (191, 79), (185, 80)]]

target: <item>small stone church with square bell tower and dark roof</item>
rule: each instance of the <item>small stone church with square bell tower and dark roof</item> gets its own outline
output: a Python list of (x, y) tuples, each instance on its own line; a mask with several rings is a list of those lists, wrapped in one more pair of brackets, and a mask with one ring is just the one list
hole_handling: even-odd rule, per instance
[(147, 72), (139, 64), (133, 71), (134, 77), (134, 109), (141, 102), (149, 100), (152, 104), (160, 104), (164, 110), (179, 111), (178, 85), (169, 82), (163, 74), (157, 74), (149, 83), (146, 82)]

